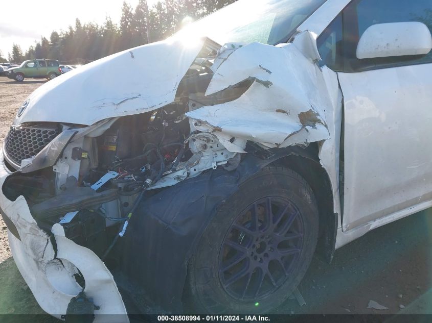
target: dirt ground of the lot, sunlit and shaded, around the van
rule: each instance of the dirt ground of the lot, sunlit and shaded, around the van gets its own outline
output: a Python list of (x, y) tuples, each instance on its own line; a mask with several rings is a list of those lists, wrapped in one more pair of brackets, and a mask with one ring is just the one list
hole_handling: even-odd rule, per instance
[[(20, 104), (45, 82), (17, 83), (0, 78), (2, 142)], [(427, 210), (378, 228), (336, 251), (330, 265), (314, 259), (299, 286), (306, 305), (300, 307), (295, 300), (288, 300), (277, 312), (432, 313), (431, 215), (432, 210)], [(370, 301), (388, 309), (368, 308)], [(13, 262), (6, 226), (0, 220), (0, 314), (12, 313), (40, 314), (43, 311)], [(57, 322), (40, 315), (26, 317), (24, 321)]]

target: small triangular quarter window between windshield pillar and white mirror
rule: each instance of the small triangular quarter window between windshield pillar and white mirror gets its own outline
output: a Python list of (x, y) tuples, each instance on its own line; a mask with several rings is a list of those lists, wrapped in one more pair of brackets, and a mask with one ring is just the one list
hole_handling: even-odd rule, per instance
[(320, 65), (342, 70), (342, 15), (339, 14), (316, 40), (322, 58)]

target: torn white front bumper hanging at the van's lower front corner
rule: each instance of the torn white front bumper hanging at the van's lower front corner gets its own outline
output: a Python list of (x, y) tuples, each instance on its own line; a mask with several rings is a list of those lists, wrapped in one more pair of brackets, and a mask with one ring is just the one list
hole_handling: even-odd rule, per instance
[[(9, 175), (0, 152), (0, 187)], [(0, 192), (0, 209), (16, 266), (44, 311), (58, 318), (66, 313), (72, 297), (82, 289), (74, 278), (78, 268), (85, 280), (86, 295), (100, 306), (95, 311), (95, 322), (129, 321), (110, 271), (94, 252), (67, 239), (58, 223), (51, 237), (41, 230), (23, 196), (12, 202)]]

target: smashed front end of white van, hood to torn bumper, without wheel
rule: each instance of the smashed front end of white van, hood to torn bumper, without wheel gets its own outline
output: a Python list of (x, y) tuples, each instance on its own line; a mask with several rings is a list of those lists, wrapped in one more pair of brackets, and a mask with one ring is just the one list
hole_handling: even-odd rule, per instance
[(32, 93), (5, 139), (0, 212), (42, 309), (64, 318), (81, 297), (95, 321), (128, 321), (129, 301), (180, 311), (216, 210), (281, 158), (321, 162), (337, 193), (338, 83), (319, 60), (309, 31), (282, 46), (172, 38)]

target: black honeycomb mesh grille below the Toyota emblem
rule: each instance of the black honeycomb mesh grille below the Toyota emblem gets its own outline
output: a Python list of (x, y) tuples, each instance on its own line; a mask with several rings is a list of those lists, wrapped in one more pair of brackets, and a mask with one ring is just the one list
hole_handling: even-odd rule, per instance
[(18, 165), (22, 159), (36, 156), (60, 132), (56, 129), (11, 128), (5, 139), (5, 152)]

